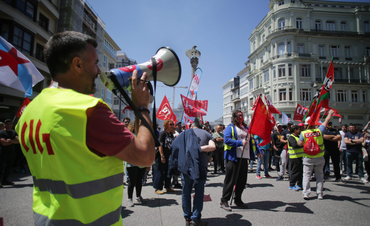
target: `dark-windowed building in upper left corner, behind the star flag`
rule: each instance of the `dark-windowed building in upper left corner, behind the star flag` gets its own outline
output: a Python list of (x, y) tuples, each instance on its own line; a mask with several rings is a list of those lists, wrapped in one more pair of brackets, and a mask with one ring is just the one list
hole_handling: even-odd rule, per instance
[[(33, 87), (35, 98), (51, 82), (44, 45), (57, 32), (59, 0), (0, 0), (0, 35), (22, 52), (44, 76)], [(0, 85), (0, 121), (13, 119), (24, 100), (21, 91)]]

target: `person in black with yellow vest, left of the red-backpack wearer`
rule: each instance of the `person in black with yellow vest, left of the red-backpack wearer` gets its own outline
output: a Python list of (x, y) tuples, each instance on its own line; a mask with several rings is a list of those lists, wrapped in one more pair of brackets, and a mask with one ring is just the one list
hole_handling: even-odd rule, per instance
[[(301, 126), (293, 125), (290, 130), (292, 133), (288, 137), (289, 153), (289, 189), (298, 191), (302, 189), (303, 179), (303, 146), (298, 145)], [(297, 184), (297, 185), (296, 185)]]

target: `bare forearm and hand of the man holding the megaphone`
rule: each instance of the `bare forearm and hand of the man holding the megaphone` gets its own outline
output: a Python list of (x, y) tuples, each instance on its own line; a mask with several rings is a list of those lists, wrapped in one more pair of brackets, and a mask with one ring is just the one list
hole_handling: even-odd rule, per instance
[[(141, 80), (147, 80), (146, 72), (144, 72)], [(132, 102), (135, 103), (137, 108), (147, 108), (150, 102), (149, 89), (144, 81), (139, 81), (137, 84), (137, 70), (134, 70), (132, 73), (131, 84)], [(141, 113), (145, 121), (151, 125), (152, 121), (149, 113), (146, 111), (141, 111)], [(144, 126), (141, 120), (139, 121), (137, 136), (121, 152), (116, 154), (115, 157), (134, 165), (150, 166), (153, 164), (155, 157), (154, 139), (151, 131)]]

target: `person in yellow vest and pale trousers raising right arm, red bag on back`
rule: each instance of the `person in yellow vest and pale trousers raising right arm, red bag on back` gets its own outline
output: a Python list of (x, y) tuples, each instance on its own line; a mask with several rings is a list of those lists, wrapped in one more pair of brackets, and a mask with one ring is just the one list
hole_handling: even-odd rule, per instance
[[(316, 177), (316, 194), (318, 199), (324, 199), (323, 197), (323, 183), (324, 183), (324, 171), (323, 166), (325, 164), (324, 159), (324, 130), (327, 123), (330, 122), (331, 116), (334, 111), (330, 109), (328, 115), (326, 116), (325, 122), (322, 123), (318, 128), (315, 125), (308, 125), (307, 130), (303, 131), (299, 137), (298, 145), (304, 146), (309, 137), (313, 137), (319, 146), (319, 153), (316, 155), (310, 155), (306, 152), (303, 154), (303, 198), (305, 200), (309, 199), (309, 194), (311, 193), (310, 177), (312, 170), (315, 171)], [(308, 122), (308, 118), (305, 123)]]

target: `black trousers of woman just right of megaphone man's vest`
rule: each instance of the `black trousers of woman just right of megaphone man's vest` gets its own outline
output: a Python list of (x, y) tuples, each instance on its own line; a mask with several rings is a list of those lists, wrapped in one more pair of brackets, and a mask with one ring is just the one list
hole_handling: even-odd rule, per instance
[(144, 173), (147, 171), (147, 168), (139, 168), (139, 166), (127, 167), (127, 173), (129, 174), (130, 181), (127, 186), (127, 196), (129, 199), (132, 199), (133, 188), (136, 188), (136, 197), (141, 196), (142, 180)]

